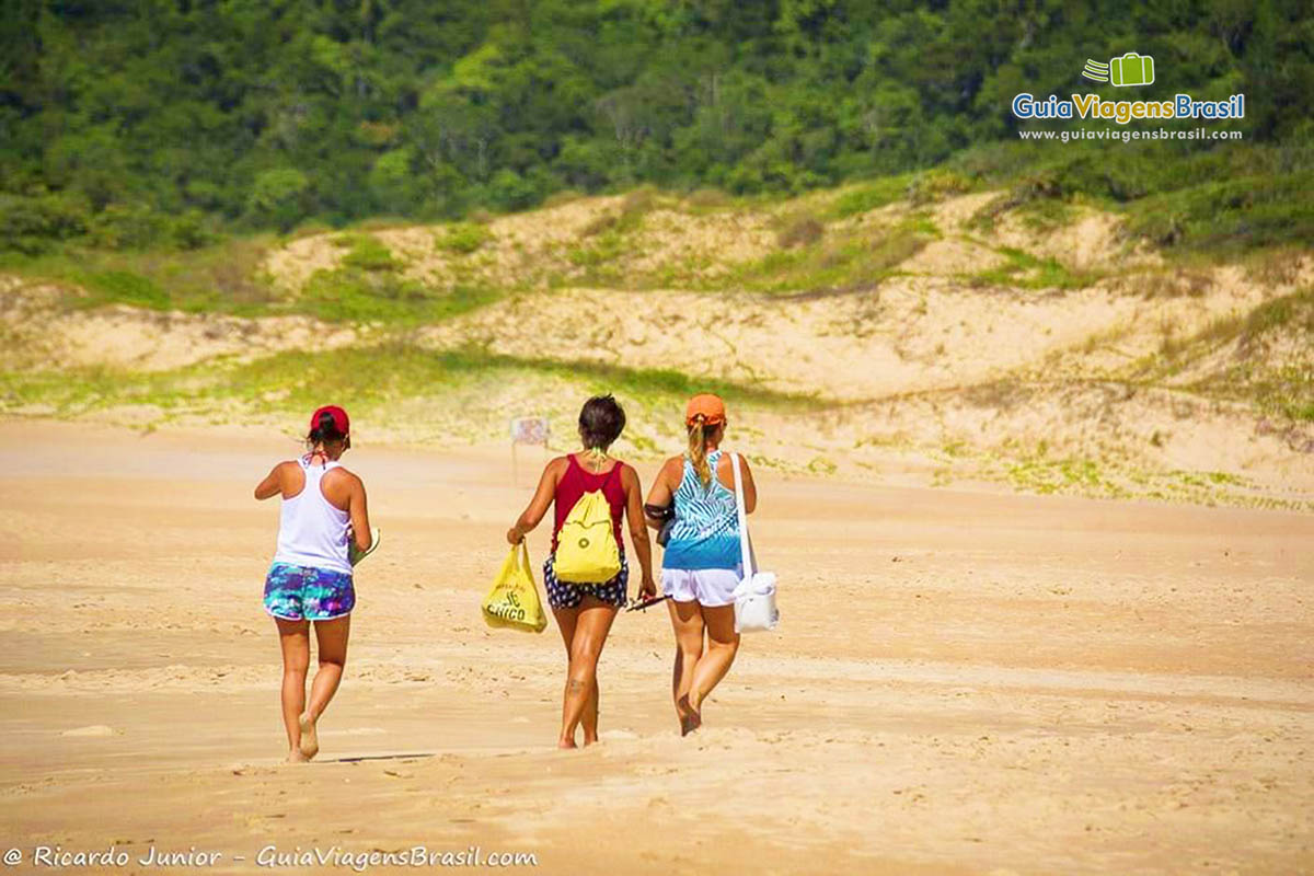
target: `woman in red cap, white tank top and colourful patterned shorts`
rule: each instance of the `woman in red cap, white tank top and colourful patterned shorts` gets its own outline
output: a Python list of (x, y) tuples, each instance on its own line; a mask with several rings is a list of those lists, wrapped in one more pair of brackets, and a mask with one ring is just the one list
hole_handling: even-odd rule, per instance
[[(365, 486), (338, 462), (351, 447), (350, 429), (347, 411), (321, 407), (310, 418), (306, 454), (273, 466), (255, 489), (256, 499), (283, 496), (264, 609), (279, 626), (283, 647), (288, 760), (309, 760), (319, 751), (317, 722), (342, 682), (356, 605), (351, 548), (364, 552), (371, 546)], [(307, 705), (311, 623), (319, 670)]]

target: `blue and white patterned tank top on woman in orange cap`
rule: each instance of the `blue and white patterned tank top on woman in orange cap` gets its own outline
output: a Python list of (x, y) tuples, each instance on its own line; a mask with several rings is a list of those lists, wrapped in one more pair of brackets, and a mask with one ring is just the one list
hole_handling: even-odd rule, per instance
[(711, 487), (703, 486), (694, 464), (685, 460), (685, 477), (675, 490), (675, 525), (661, 561), (664, 569), (735, 569), (740, 565), (735, 491), (716, 479), (720, 458), (720, 450), (707, 454)]

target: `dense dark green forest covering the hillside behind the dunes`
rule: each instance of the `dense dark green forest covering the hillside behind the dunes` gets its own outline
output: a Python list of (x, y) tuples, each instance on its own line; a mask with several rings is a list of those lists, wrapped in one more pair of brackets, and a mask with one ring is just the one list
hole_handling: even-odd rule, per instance
[(1307, 0), (4, 0), (0, 28), (0, 248), (28, 252), (1227, 148), (1017, 141), (1016, 92), (1126, 97), (1080, 72), (1129, 50), (1138, 96), (1244, 92), (1264, 172), (1314, 152)]

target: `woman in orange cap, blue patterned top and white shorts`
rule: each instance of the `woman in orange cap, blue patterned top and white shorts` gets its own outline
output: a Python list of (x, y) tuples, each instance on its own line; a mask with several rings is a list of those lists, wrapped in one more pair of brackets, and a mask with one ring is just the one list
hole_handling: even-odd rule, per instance
[[(648, 504), (665, 508), (674, 500), (675, 524), (662, 556), (662, 588), (670, 600), (675, 628), (675, 671), (671, 693), (681, 735), (702, 724), (702, 705), (725, 678), (740, 637), (735, 632), (735, 587), (744, 577), (740, 562), (738, 516), (735, 511), (735, 469), (720, 449), (725, 436), (725, 402), (700, 394), (685, 410), (689, 450), (666, 460)], [(744, 508), (757, 506), (757, 486), (740, 457)], [(661, 527), (649, 517), (648, 524)], [(706, 644), (704, 644), (706, 634)]]

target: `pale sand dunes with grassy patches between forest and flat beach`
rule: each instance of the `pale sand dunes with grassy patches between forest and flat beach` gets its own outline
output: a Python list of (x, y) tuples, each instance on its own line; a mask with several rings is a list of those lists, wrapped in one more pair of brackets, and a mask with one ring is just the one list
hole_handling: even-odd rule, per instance
[[(384, 390), (376, 435), (394, 441), (469, 445), (511, 414), (568, 435), (574, 411), (555, 399), (618, 389), (597, 377), (611, 366), (637, 414), (674, 405), (661, 389), (673, 372), (737, 383), (738, 427), (782, 471), (1314, 507), (1307, 252), (1167, 261), (1091, 206), (1037, 227), (1018, 210), (978, 222), (1004, 197), (992, 192), (837, 218), (842, 197), (699, 206), (641, 189), (493, 218), (464, 229), (469, 246), (445, 244), (449, 226), (376, 229), (388, 264), (439, 299), (453, 285), (498, 290), (418, 326), (68, 309), (67, 292), (0, 277), (16, 376), (0, 410), (151, 427), (210, 423), (221, 406), (269, 422), (297, 373), (279, 353), (386, 348), (399, 382), (371, 389)], [(816, 236), (791, 243), (792, 227)], [(272, 250), (283, 303), (364, 234)], [(828, 273), (865, 259), (871, 272)], [(407, 377), (434, 352), (466, 360), (457, 380)], [(288, 380), (227, 398), (242, 362)], [(102, 405), (99, 387), (120, 377), (133, 391)], [(811, 399), (809, 415), (783, 412), (781, 394)], [(664, 418), (636, 416), (628, 449), (656, 457), (677, 440)]]

